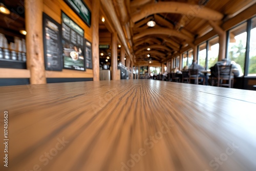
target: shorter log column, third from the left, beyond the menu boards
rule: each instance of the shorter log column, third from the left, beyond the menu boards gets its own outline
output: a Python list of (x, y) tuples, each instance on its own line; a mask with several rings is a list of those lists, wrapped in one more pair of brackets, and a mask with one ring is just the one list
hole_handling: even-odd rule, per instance
[(111, 34), (111, 79), (116, 80), (117, 76), (117, 33), (114, 32)]

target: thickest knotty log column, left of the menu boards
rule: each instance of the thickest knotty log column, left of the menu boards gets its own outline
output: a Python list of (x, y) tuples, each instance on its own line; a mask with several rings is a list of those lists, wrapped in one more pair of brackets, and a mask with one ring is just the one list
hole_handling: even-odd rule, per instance
[(27, 67), (30, 70), (30, 84), (46, 83), (44, 45), (42, 41), (42, 0), (25, 0)]

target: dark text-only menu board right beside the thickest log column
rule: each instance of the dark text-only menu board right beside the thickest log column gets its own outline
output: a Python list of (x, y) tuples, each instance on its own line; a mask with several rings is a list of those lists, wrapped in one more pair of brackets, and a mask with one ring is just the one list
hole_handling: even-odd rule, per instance
[(46, 70), (61, 71), (62, 56), (60, 25), (51, 17), (43, 14), (44, 54)]

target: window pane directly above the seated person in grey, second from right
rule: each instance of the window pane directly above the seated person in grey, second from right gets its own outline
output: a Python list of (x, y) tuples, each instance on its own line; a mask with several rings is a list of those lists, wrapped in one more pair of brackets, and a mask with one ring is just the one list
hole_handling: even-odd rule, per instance
[(247, 23), (239, 25), (229, 31), (228, 59), (237, 67), (241, 67), (241, 75), (244, 72), (246, 50)]

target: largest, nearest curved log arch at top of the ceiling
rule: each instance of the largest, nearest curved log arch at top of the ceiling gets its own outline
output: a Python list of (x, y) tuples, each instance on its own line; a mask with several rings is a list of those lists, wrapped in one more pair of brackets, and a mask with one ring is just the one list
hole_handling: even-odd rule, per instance
[(178, 13), (189, 17), (199, 17), (206, 20), (221, 20), (223, 14), (209, 8), (201, 8), (199, 5), (191, 5), (177, 2), (159, 2), (143, 6), (138, 13), (132, 16), (132, 22), (156, 13)]

